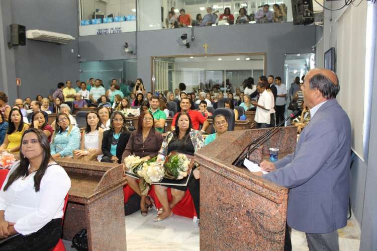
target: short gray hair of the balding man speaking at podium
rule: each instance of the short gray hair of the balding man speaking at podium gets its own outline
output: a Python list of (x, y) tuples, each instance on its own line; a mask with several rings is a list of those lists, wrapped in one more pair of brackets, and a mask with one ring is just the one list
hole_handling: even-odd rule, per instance
[(318, 89), (325, 99), (335, 99), (340, 91), (338, 77), (336, 77), (336, 83), (334, 83), (321, 73), (310, 78), (309, 87), (310, 89)]

